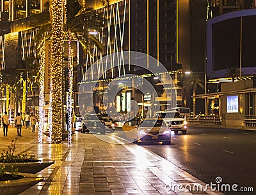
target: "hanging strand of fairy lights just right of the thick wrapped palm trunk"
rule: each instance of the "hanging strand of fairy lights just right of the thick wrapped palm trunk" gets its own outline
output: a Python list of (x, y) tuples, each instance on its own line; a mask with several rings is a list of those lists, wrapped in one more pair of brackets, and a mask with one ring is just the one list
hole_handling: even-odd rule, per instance
[(72, 94), (73, 94), (73, 57), (74, 50), (68, 41), (68, 143), (72, 141)]

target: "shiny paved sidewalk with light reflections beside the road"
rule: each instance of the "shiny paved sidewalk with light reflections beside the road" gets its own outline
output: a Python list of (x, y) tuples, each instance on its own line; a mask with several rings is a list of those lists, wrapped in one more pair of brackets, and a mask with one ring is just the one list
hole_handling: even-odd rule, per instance
[[(0, 150), (10, 145), (17, 132), (10, 128), (8, 136), (0, 131)], [(40, 182), (21, 194), (221, 194), (207, 189), (206, 192), (188, 192), (178, 185), (206, 185), (177, 168), (162, 157), (138, 145), (107, 143), (93, 134), (77, 133), (72, 144), (38, 144), (37, 132), (22, 129), (17, 137), (15, 154), (35, 154), (39, 159), (54, 160), (38, 174)], [(113, 135), (109, 140), (122, 143), (122, 138)], [(99, 136), (99, 137), (100, 137)]]

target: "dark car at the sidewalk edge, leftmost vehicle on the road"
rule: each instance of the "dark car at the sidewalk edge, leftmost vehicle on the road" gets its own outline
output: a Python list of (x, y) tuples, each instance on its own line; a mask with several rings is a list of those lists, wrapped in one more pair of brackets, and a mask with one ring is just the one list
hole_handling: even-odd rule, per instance
[(82, 120), (81, 133), (92, 132), (105, 134), (105, 122), (99, 114), (86, 114)]

